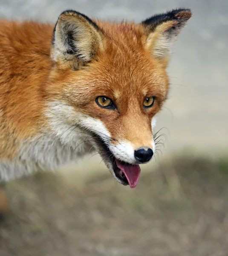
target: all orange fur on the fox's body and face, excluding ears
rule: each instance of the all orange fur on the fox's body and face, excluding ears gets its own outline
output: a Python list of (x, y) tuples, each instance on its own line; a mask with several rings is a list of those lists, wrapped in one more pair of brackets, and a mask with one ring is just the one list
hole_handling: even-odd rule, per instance
[[(141, 119), (147, 119), (147, 130), (150, 131), (151, 116), (157, 113), (165, 100), (168, 89), (168, 79), (165, 69), (159, 61), (150, 57), (150, 52), (143, 49), (143, 29), (134, 23), (113, 24), (98, 23), (105, 32), (106, 52), (103, 53), (102, 63), (91, 63), (87, 68), (79, 70), (77, 74), (71, 70), (56, 70), (50, 59), (53, 26), (35, 22), (2, 22), (0, 27), (0, 109), (3, 109), (1, 123), (0, 145), (1, 157), (12, 158), (16, 154), (18, 139), (33, 136), (39, 127), (45, 124), (41, 116), (43, 103), (48, 97), (62, 99), (63, 90), (76, 90), (81, 97), (80, 104), (75, 103), (75, 95), (69, 97), (69, 104), (75, 108), (82, 108), (94, 117), (116, 119), (113, 113), (103, 113), (93, 100), (95, 93), (91, 83), (99, 88), (104, 95), (113, 98), (113, 88), (121, 92), (122, 99), (116, 99), (123, 112), (127, 111), (127, 100), (131, 99), (129, 108), (134, 110), (136, 102), (142, 101), (144, 95), (138, 94), (138, 87), (144, 87), (147, 95), (158, 95), (159, 102), (148, 118), (141, 116), (143, 110), (131, 112), (129, 118), (135, 121), (130, 125), (135, 132)], [(132, 70), (124, 73), (124, 70)], [(107, 83), (110, 82), (109, 84)], [(120, 84), (121, 81), (121, 84)], [(77, 87), (75, 86), (77, 84)], [(154, 84), (153, 88), (150, 88)], [(98, 85), (98, 86), (97, 86)], [(76, 87), (76, 88), (75, 88)], [(159, 88), (159, 89), (158, 89)], [(88, 91), (93, 93), (88, 93)], [(130, 97), (130, 95), (132, 97)], [(73, 99), (71, 99), (73, 98)], [(84, 104), (91, 102), (91, 105)], [(125, 113), (123, 114), (125, 116)], [(124, 119), (126, 119), (124, 117)], [(111, 120), (110, 125), (113, 126)], [(131, 121), (131, 122), (132, 122)], [(126, 120), (126, 122), (128, 122)], [(119, 121), (124, 127), (124, 122)], [(119, 127), (119, 123), (116, 126)], [(108, 124), (107, 124), (108, 125)], [(7, 131), (5, 131), (7, 129)], [(146, 128), (144, 128), (146, 129)], [(108, 129), (115, 138), (121, 133), (128, 133), (123, 129)], [(116, 131), (116, 134), (115, 132)], [(130, 133), (134, 137), (135, 133)], [(140, 137), (141, 131), (136, 138)], [(6, 139), (7, 138), (7, 139)], [(137, 139), (136, 139), (137, 140)]]

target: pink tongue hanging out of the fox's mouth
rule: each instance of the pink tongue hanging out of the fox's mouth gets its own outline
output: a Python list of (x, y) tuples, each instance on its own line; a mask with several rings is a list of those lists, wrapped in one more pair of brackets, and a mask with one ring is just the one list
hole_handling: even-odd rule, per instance
[(127, 181), (130, 185), (130, 188), (132, 188), (132, 189), (135, 188), (137, 183), (138, 183), (139, 175), (140, 175), (140, 172), (141, 172), (141, 169), (140, 169), (139, 165), (138, 164), (133, 165), (133, 164), (129, 164), (129, 163), (124, 163), (124, 162), (121, 162), (117, 159), (116, 159), (116, 164), (117, 164), (117, 167), (119, 169), (121, 169), (121, 171), (126, 176)]

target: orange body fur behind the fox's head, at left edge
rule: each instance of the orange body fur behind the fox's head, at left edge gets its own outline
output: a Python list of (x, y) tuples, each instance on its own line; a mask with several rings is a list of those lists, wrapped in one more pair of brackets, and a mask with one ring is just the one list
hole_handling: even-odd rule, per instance
[(50, 60), (53, 26), (1, 21), (0, 158), (12, 159), (20, 139), (42, 125), (40, 113)]

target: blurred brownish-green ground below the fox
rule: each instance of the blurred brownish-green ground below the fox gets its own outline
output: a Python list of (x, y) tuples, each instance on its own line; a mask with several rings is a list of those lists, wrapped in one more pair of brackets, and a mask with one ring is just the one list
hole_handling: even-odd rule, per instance
[[(136, 189), (107, 174), (44, 173), (5, 186), (0, 256), (226, 256), (228, 163), (177, 159)], [(75, 185), (77, 184), (77, 185)]]

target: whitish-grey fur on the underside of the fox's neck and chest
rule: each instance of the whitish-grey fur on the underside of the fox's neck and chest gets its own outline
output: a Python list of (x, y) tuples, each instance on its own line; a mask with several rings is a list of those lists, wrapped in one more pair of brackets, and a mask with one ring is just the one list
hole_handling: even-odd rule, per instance
[(64, 145), (60, 139), (50, 135), (33, 138), (18, 148), (18, 154), (13, 160), (0, 161), (0, 182), (39, 170), (54, 171), (67, 163), (76, 162), (79, 157), (92, 151), (94, 148), (84, 143), (82, 136), (75, 138), (71, 145)]

